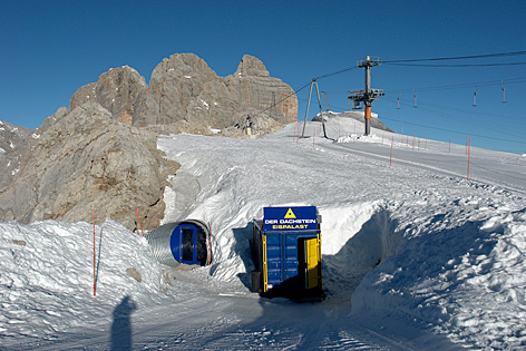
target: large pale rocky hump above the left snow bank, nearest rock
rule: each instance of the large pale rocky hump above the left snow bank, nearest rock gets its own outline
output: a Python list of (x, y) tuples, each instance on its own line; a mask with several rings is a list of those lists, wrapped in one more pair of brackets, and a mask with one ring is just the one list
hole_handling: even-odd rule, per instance
[[(163, 192), (177, 164), (162, 158), (154, 133), (119, 123), (98, 103), (59, 110), (22, 150), (26, 162), (0, 194), (0, 218), (97, 222), (145, 228), (164, 216)], [(40, 134), (41, 131), (41, 134)]]

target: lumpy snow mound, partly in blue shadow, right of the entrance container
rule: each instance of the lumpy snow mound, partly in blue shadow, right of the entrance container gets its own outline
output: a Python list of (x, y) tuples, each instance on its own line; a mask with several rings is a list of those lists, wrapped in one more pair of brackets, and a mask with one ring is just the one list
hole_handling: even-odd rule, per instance
[(455, 342), (524, 347), (526, 209), (503, 209), (415, 218), (399, 253), (358, 286), (353, 314), (397, 313)]

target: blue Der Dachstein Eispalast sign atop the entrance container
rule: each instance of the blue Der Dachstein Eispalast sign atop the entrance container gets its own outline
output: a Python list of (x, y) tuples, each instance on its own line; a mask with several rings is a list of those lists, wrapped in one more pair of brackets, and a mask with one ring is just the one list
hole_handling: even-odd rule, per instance
[(263, 230), (265, 232), (316, 231), (316, 207), (264, 207)]

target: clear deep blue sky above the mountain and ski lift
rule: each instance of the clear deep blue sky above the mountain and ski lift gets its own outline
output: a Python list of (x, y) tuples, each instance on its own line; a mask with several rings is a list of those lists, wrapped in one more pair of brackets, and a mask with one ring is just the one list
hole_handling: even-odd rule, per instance
[[(196, 53), (220, 76), (250, 53), (298, 89), (367, 55), (390, 61), (524, 51), (525, 23), (525, 1), (0, 0), (0, 119), (36, 128), (109, 68), (128, 65), (148, 82), (175, 52)], [(319, 80), (332, 110), (348, 109), (347, 91), (362, 89), (363, 76), (352, 69)], [(470, 135), (473, 146), (526, 154), (526, 65), (386, 64), (372, 68), (372, 87), (387, 92), (373, 111), (393, 130), (457, 144)], [(299, 92), (301, 120), (308, 90)]]

